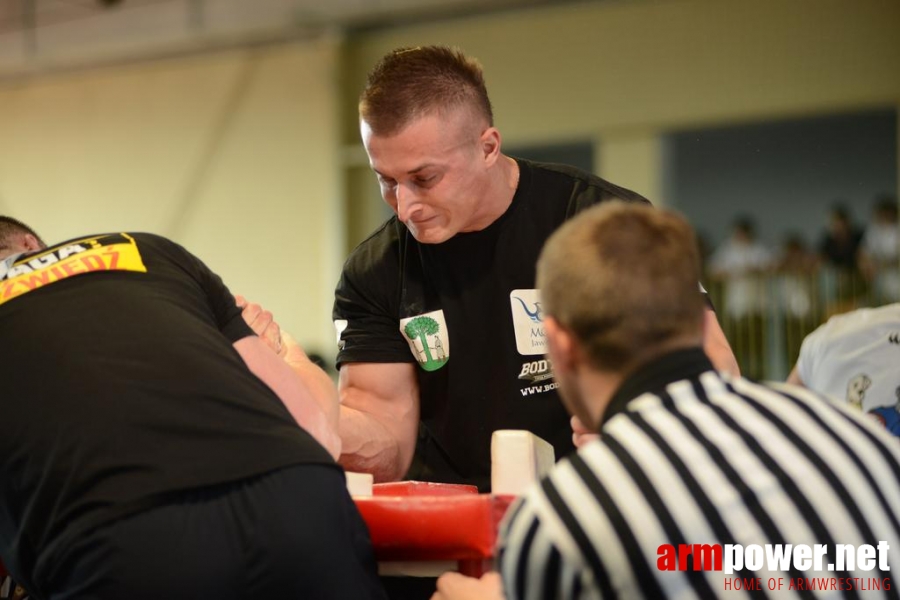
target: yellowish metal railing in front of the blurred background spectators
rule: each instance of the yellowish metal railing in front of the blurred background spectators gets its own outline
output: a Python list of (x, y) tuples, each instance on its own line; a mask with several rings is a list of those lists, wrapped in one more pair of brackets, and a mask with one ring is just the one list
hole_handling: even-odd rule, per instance
[(708, 277), (704, 287), (741, 373), (783, 381), (797, 361), (803, 339), (830, 317), (900, 301), (900, 271), (865, 278), (857, 271), (817, 268)]

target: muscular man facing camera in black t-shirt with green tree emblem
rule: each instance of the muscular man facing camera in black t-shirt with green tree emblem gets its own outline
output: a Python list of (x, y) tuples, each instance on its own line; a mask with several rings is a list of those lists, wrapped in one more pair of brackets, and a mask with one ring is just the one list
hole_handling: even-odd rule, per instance
[[(505, 156), (480, 67), (449, 48), (384, 57), (360, 127), (395, 217), (352, 253), (335, 293), (341, 463), (381, 481), (408, 474), (485, 489), (495, 429), (529, 429), (567, 454), (535, 259), (586, 206), (645, 200), (589, 173)], [(706, 332), (714, 363), (737, 371), (711, 310)]]

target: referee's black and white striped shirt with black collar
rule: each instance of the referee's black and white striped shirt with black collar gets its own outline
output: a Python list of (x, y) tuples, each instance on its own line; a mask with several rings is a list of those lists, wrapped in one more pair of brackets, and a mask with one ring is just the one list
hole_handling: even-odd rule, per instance
[[(897, 438), (808, 390), (730, 378), (699, 349), (680, 350), (630, 376), (601, 438), (510, 509), (499, 561), (508, 598), (811, 596), (790, 588), (813, 578), (834, 597), (898, 597), (884, 563), (828, 570), (837, 544), (879, 542), (900, 570), (898, 516)], [(763, 563), (729, 575), (660, 570), (664, 544), (824, 544), (825, 554), (820, 571)], [(746, 590), (756, 578), (762, 591)], [(781, 589), (768, 591), (770, 579)], [(872, 589), (882, 591), (860, 591)]]

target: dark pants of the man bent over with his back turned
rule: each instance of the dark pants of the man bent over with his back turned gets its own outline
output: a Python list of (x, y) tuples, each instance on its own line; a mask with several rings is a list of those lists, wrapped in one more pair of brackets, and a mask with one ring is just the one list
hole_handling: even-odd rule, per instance
[(187, 492), (66, 555), (51, 600), (385, 598), (343, 474), (322, 465)]

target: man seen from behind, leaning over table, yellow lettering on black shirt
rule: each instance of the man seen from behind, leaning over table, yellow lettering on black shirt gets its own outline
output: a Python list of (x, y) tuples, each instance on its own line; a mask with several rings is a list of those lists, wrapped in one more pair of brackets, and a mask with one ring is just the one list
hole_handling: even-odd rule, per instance
[(0, 261), (0, 558), (26, 589), (381, 597), (337, 395), (299, 347), (156, 235), (47, 247), (0, 217)]

